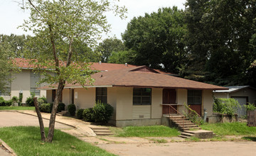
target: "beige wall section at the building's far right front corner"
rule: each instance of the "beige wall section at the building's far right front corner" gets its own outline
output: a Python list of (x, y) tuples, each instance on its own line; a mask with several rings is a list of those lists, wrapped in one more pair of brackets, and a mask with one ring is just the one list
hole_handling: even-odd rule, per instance
[(206, 108), (207, 116), (213, 115), (213, 90), (203, 90), (203, 108), (202, 108), (202, 116), (203, 109)]

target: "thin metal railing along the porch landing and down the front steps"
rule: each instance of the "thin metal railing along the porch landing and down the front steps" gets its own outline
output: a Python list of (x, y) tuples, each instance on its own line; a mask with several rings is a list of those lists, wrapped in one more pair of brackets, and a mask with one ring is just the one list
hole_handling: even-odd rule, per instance
[(197, 125), (201, 125), (203, 123), (201, 116), (196, 113), (196, 111), (189, 108), (187, 104), (162, 104), (162, 110), (163, 114), (169, 114), (169, 116), (185, 116)]

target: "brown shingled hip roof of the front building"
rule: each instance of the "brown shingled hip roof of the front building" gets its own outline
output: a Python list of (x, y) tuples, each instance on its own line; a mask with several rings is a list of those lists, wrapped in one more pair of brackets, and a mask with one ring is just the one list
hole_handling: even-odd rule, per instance
[[(117, 69), (109, 72), (98, 72), (92, 74), (95, 79), (94, 86), (110, 86), (110, 87), (158, 87), (173, 89), (213, 89), (221, 90), (225, 87), (218, 87), (213, 84), (196, 82), (180, 77), (173, 77), (166, 74), (156, 72), (140, 72), (136, 69), (148, 68), (146, 66), (131, 67), (127, 69)], [(134, 71), (135, 70), (135, 71)], [(80, 87), (80, 84), (67, 84), (65, 88)], [(43, 88), (41, 88), (43, 89)], [(50, 89), (50, 87), (44, 87)]]

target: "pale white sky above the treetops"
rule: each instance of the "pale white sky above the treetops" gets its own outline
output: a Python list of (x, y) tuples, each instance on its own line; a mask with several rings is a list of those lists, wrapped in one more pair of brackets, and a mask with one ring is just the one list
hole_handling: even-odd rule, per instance
[[(23, 31), (22, 28), (17, 28), (29, 16), (29, 12), (23, 11), (17, 1), (22, 3), (22, 0), (0, 0), (0, 34), (33, 35), (31, 32)], [(121, 33), (124, 33), (127, 23), (134, 16), (144, 16), (145, 13), (157, 11), (162, 7), (178, 6), (178, 9), (185, 9), (185, 2), (186, 0), (119, 0), (119, 6), (126, 6), (128, 9), (127, 18), (122, 20), (107, 13), (107, 21), (111, 24), (112, 29), (110, 33), (103, 35), (103, 38), (116, 36), (121, 39)]]

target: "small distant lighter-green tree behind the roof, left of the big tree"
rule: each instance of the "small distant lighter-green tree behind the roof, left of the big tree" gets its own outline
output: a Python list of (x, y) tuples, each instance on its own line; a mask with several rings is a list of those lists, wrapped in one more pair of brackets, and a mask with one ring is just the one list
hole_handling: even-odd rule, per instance
[(107, 38), (99, 44), (97, 51), (101, 53), (101, 62), (108, 62), (114, 52), (124, 50), (124, 43), (117, 38)]

